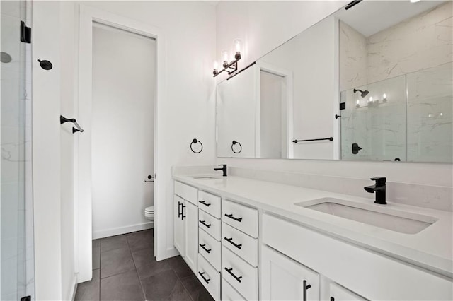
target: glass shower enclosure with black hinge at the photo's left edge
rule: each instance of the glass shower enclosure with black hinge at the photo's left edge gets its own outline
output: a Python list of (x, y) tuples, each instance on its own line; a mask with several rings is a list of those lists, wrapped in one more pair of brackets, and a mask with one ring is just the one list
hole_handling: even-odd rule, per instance
[(21, 42), (21, 22), (31, 23), (29, 4), (0, 1), (0, 300), (35, 295), (31, 45)]

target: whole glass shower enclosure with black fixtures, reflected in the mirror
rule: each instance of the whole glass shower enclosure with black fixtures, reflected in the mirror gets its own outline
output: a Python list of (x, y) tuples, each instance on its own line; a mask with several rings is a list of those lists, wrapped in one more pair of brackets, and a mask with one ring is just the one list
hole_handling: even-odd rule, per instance
[(359, 89), (340, 93), (342, 160), (452, 162), (452, 63)]

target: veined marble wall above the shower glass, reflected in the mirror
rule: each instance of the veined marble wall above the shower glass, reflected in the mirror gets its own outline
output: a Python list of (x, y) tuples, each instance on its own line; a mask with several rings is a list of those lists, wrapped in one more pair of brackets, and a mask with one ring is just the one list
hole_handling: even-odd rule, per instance
[(453, 1), (365, 37), (340, 21), (340, 91), (453, 61)]

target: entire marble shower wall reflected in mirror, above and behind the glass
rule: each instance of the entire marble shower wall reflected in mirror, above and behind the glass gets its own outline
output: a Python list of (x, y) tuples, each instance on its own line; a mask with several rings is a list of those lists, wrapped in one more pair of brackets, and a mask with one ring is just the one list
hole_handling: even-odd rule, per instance
[[(453, 2), (369, 37), (341, 21), (339, 28), (341, 158), (452, 162)], [(384, 86), (389, 101), (362, 109)], [(370, 93), (362, 99), (353, 88)], [(352, 143), (363, 149), (353, 155)]]

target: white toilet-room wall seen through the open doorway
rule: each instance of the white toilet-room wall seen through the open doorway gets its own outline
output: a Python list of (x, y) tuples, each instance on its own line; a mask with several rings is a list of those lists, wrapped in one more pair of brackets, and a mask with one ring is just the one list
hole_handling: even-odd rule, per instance
[(156, 40), (93, 23), (93, 239), (153, 227)]

